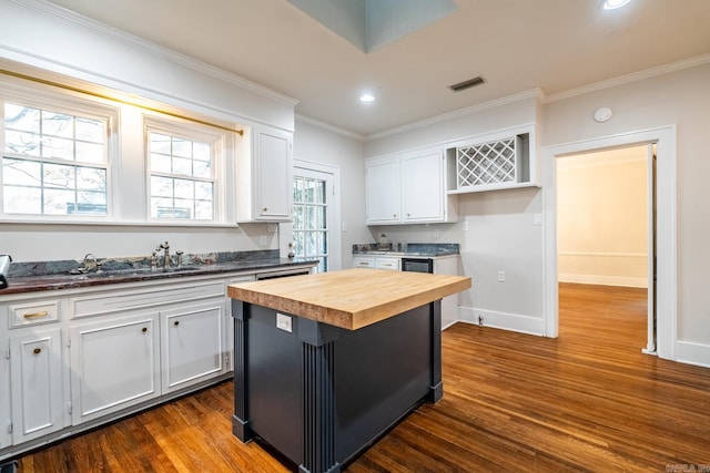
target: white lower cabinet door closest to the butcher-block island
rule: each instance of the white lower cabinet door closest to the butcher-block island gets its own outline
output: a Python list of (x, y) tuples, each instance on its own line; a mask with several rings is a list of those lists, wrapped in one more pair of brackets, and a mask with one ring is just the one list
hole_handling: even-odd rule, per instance
[(226, 372), (224, 300), (161, 311), (162, 392)]

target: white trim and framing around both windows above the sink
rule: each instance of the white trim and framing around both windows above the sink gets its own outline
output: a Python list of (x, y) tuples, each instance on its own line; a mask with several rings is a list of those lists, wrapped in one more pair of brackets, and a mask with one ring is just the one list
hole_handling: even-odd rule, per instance
[[(241, 153), (250, 153), (248, 148), (244, 147), (244, 143), (250, 143), (248, 125), (211, 117), (169, 103), (126, 95), (120, 91), (65, 76), (59, 80), (45, 80), (22, 74), (0, 74), (0, 120), (4, 117), (6, 101), (73, 115), (110, 117), (106, 125), (106, 215), (4, 213), (2, 168), (0, 168), (0, 225), (239, 227), (236, 157)], [(168, 130), (178, 127), (186, 131), (189, 136), (223, 138), (220, 148), (216, 152), (213, 151), (215, 154), (213, 173), (217, 179), (217, 186), (214, 191), (212, 220), (151, 218), (150, 187), (146, 185), (150, 173), (144, 157), (146, 137), (143, 119), (146, 116), (149, 120), (166, 124)], [(4, 151), (4, 126), (0, 127), (0, 150)], [(77, 164), (77, 162), (72, 163)], [(123, 189), (130, 192), (122, 192)]]

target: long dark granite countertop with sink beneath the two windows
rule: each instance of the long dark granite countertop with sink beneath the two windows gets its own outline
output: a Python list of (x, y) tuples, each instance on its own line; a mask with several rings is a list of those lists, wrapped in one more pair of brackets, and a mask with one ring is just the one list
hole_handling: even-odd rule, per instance
[[(268, 253), (267, 255), (260, 256), (267, 257), (241, 257), (232, 258), (225, 261), (215, 260), (200, 264), (190, 264), (182, 267), (173, 266), (169, 269), (163, 269), (162, 267), (151, 269), (150, 266), (145, 267), (140, 265), (126, 268), (118, 266), (109, 270), (85, 273), (79, 275), (69, 274), (69, 271), (23, 274), (27, 271), (16, 270), (16, 274), (19, 273), (21, 275), (10, 275), (10, 277), (8, 278), (8, 287), (6, 289), (0, 289), (0, 297), (11, 294), (103, 286), (121, 282), (180, 278), (187, 276), (206, 276), (241, 271), (260, 273), (261, 270), (273, 270), (287, 268), (290, 266), (308, 264), (313, 265), (317, 263), (315, 260), (302, 258), (278, 258), (277, 251), (275, 255), (273, 253)], [(34, 266), (37, 267), (38, 264), (34, 264)]]

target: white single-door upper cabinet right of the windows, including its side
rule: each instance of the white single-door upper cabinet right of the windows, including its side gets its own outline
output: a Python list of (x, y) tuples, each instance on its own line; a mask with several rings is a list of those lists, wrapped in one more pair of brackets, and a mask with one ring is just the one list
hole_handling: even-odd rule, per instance
[(237, 222), (291, 222), (293, 134), (255, 126), (237, 152)]

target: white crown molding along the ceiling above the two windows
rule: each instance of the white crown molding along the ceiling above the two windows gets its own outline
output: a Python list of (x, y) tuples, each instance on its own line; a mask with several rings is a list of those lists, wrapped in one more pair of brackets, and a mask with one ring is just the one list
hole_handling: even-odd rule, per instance
[(78, 27), (84, 28), (87, 30), (91, 30), (98, 34), (101, 34), (114, 41), (121, 42), (131, 48), (142, 50), (150, 54), (160, 56), (173, 63), (192, 69), (205, 75), (210, 75), (214, 79), (221, 80), (223, 82), (235, 85), (237, 88), (245, 89), (250, 92), (282, 102), (286, 105), (295, 106), (300, 102), (297, 99), (273, 91), (255, 82), (248, 81), (244, 78), (232, 74), (222, 69), (212, 66), (202, 61), (197, 61), (196, 59), (181, 54), (176, 51), (160, 47), (142, 38), (139, 38), (133, 34), (126, 33), (125, 31), (119, 30), (118, 28), (113, 28), (105, 23), (101, 23), (99, 21), (83, 17), (79, 13), (75, 13), (65, 8), (55, 6), (45, 0), (10, 0), (10, 1), (27, 8), (31, 8), (36, 11), (39, 11), (45, 14), (51, 14), (63, 21), (77, 24)]

